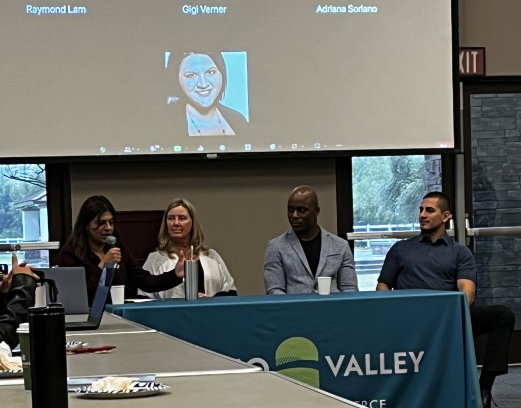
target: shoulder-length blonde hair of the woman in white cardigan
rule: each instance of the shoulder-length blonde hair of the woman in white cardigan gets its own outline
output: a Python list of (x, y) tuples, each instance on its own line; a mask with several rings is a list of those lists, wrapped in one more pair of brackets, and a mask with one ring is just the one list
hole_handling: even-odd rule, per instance
[(157, 237), (157, 240), (159, 241), (157, 250), (168, 253), (169, 258), (173, 258), (173, 254), (179, 255), (177, 248), (170, 239), (170, 235), (168, 234), (168, 226), (166, 223), (168, 218), (168, 211), (170, 211), (172, 208), (179, 206), (184, 207), (188, 211), (188, 214), (192, 219), (192, 231), (190, 231), (190, 245), (193, 245), (194, 247), (193, 254), (207, 255), (209, 248), (203, 245), (204, 234), (203, 228), (201, 228), (201, 224), (199, 223), (199, 215), (197, 214), (193, 204), (184, 198), (176, 198), (166, 208), (165, 213), (163, 214), (161, 228), (159, 229), (159, 235)]

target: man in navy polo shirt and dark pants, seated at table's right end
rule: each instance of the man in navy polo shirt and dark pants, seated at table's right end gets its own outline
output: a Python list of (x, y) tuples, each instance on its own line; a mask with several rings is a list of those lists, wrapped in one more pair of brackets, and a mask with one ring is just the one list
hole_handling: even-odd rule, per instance
[(440, 192), (428, 193), (421, 201), (421, 233), (398, 241), (387, 253), (376, 290), (458, 290), (467, 295), (474, 337), (489, 333), (485, 362), (479, 377), (483, 407), (490, 407), (496, 376), (508, 371), (508, 347), (514, 328), (514, 313), (502, 305), (477, 306), (476, 264), (470, 250), (445, 233), (451, 218), (450, 200)]

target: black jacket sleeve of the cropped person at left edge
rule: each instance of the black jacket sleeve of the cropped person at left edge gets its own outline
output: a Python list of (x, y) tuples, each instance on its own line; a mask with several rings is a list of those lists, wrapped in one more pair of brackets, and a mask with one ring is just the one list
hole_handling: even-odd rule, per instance
[(18, 344), (16, 329), (27, 322), (29, 308), (34, 306), (36, 280), (26, 274), (13, 276), (11, 288), (3, 296), (0, 310), (0, 342), (12, 349)]

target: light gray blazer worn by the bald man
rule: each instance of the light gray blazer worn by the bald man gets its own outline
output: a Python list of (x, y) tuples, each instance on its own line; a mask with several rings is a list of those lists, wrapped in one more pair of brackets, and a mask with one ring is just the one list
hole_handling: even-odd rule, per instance
[[(331, 276), (331, 292), (358, 290), (353, 254), (348, 241), (321, 229), (317, 275)], [(264, 285), (268, 295), (317, 291), (299, 238), (290, 230), (268, 241), (264, 254)]]

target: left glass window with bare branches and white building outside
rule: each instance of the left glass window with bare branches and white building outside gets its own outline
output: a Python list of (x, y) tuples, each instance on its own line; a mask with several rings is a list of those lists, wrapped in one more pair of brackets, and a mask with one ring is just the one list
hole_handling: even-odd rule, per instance
[[(0, 244), (48, 239), (45, 166), (0, 164)], [(18, 260), (46, 267), (49, 251), (19, 251)], [(11, 266), (10, 252), (0, 252), (0, 263)]]

